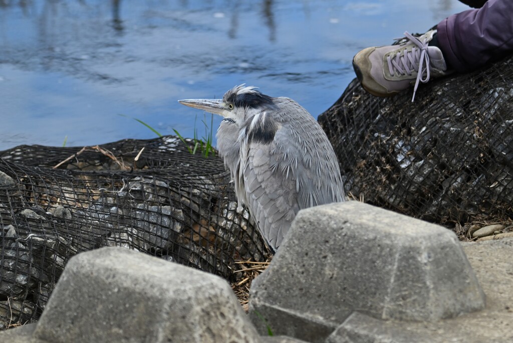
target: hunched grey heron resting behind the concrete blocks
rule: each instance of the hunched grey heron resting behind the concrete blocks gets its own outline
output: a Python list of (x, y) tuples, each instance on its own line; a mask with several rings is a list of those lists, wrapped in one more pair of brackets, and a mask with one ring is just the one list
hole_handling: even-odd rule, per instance
[(219, 155), (239, 206), (247, 206), (273, 250), (300, 209), (344, 201), (337, 156), (319, 123), (297, 102), (244, 84), (223, 99), (179, 102), (223, 117), (216, 134)]

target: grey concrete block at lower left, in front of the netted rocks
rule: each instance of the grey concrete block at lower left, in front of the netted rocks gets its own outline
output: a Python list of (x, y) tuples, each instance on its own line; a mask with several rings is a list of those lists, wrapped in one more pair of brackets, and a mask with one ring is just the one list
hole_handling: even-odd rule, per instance
[(220, 277), (122, 248), (70, 259), (34, 337), (50, 342), (258, 342)]

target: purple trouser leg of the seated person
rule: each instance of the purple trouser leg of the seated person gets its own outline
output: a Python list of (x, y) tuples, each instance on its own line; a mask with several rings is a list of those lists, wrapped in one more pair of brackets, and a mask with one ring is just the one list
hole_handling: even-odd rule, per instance
[(513, 52), (513, 0), (488, 0), (438, 24), (438, 41), (452, 69), (466, 72)]

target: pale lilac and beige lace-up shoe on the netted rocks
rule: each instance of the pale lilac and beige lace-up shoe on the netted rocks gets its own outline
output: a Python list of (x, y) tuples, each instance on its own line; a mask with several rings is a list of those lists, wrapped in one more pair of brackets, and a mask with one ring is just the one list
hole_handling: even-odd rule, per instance
[(405, 32), (406, 41), (399, 45), (371, 47), (358, 52), (353, 58), (353, 68), (363, 88), (377, 97), (389, 97), (411, 85), (413, 99), (419, 82), (448, 74), (442, 51), (428, 46), (436, 30), (420, 37)]

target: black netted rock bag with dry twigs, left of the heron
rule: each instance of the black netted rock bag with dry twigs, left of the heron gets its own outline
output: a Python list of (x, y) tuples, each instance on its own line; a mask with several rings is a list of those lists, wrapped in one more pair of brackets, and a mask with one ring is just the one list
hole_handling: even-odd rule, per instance
[(0, 158), (0, 329), (36, 320), (83, 251), (122, 246), (229, 280), (236, 261), (269, 254), (223, 161), (175, 137), (18, 146)]

